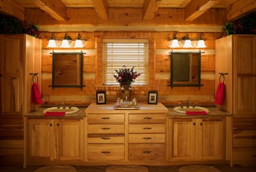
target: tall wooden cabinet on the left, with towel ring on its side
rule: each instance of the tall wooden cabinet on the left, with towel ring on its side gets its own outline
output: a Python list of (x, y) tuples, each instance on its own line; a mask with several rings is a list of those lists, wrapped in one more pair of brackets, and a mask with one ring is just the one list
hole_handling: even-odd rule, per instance
[(41, 44), (26, 34), (0, 35), (0, 164), (23, 164), (23, 116), (36, 108), (29, 73), (38, 73), (40, 83)]

